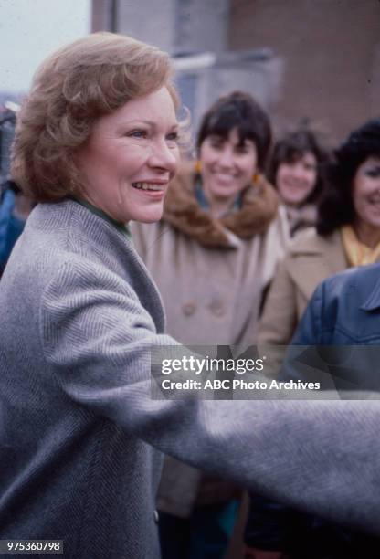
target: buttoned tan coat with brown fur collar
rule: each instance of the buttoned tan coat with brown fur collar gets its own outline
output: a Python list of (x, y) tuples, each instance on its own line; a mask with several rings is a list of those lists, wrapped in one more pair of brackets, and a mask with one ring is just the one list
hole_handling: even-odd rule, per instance
[[(186, 345), (255, 343), (262, 291), (289, 242), (268, 183), (249, 187), (242, 208), (213, 219), (185, 169), (170, 186), (164, 219), (132, 224), (132, 238), (164, 300), (167, 332)], [(188, 517), (197, 504), (227, 501), (236, 488), (166, 458), (157, 506)]]

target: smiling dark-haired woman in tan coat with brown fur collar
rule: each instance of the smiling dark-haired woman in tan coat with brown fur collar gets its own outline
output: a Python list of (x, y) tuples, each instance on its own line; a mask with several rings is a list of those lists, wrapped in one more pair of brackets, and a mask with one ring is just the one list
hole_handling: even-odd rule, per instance
[[(267, 114), (234, 92), (206, 112), (199, 160), (187, 163), (160, 223), (133, 224), (135, 246), (157, 282), (167, 329), (190, 345), (254, 343), (262, 291), (288, 241), (278, 196), (261, 171), (270, 144)], [(237, 488), (166, 459), (158, 495), (163, 555), (223, 557)]]

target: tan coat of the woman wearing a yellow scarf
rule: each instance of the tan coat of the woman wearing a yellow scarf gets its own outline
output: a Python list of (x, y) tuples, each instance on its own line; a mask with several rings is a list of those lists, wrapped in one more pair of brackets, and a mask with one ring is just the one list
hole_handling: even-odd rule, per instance
[(288, 345), (317, 285), (348, 268), (339, 230), (307, 231), (290, 245), (276, 270), (259, 322), (259, 344)]

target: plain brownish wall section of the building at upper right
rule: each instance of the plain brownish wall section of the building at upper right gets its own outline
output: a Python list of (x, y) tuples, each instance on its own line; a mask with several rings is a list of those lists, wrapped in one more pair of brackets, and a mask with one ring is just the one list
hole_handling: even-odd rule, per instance
[(310, 117), (340, 140), (380, 115), (378, 0), (231, 0), (228, 47), (282, 59), (279, 131)]

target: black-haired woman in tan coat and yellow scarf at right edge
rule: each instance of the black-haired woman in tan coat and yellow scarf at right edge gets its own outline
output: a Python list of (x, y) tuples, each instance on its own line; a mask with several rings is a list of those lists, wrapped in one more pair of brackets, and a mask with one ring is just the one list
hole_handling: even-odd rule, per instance
[(287, 345), (318, 283), (380, 259), (380, 119), (336, 152), (317, 232), (297, 239), (280, 263), (259, 323), (259, 343)]

